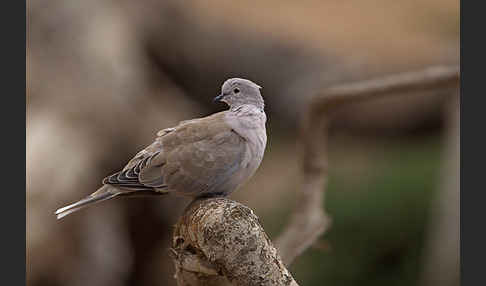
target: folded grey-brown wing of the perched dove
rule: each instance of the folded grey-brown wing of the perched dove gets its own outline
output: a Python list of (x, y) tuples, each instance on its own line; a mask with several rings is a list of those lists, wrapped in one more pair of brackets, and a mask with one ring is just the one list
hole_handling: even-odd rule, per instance
[(245, 140), (224, 112), (183, 121), (157, 133), (122, 171), (103, 180), (126, 190), (168, 189), (187, 195), (219, 191), (240, 167)]

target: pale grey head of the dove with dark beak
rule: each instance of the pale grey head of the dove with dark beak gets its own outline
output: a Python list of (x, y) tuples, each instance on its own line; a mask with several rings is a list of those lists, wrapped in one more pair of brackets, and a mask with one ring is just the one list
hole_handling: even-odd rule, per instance
[(263, 110), (263, 97), (261, 87), (256, 83), (243, 78), (230, 78), (223, 83), (221, 94), (214, 98), (215, 102), (222, 101), (230, 108), (241, 105), (254, 105)]

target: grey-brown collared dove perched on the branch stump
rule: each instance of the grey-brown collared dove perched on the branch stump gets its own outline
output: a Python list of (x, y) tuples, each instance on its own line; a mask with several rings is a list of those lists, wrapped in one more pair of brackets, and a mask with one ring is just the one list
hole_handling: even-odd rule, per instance
[(267, 143), (261, 87), (241, 78), (224, 82), (214, 101), (229, 110), (186, 120), (157, 133), (119, 172), (88, 197), (56, 211), (60, 219), (117, 196), (226, 196), (257, 170)]

